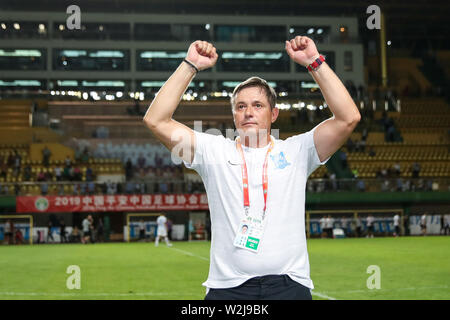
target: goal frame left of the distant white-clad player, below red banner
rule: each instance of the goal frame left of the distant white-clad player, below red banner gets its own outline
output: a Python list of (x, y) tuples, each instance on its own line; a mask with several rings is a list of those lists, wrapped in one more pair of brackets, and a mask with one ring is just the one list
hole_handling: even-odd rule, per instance
[(127, 213), (124, 226), (124, 240), (153, 241), (156, 238), (156, 219), (161, 213)]

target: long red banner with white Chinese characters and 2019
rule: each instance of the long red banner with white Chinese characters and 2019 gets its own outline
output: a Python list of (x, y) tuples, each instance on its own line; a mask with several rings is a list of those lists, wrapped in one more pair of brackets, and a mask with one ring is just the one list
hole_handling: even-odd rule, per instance
[(208, 210), (206, 194), (16, 197), (16, 212)]

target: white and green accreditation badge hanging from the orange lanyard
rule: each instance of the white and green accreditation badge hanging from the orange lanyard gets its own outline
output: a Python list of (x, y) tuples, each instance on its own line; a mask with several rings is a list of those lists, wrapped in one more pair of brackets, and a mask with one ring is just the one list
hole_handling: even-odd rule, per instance
[(239, 223), (234, 245), (257, 253), (264, 233), (264, 219), (246, 216)]

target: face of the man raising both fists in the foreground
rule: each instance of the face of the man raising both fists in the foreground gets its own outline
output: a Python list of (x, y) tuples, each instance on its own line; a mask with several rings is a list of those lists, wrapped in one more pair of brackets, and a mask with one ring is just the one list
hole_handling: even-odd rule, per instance
[[(278, 117), (278, 109), (271, 110), (263, 88), (249, 87), (242, 89), (235, 99), (233, 108), (234, 124), (244, 134), (270, 134), (270, 127)], [(265, 133), (264, 133), (265, 132)]]

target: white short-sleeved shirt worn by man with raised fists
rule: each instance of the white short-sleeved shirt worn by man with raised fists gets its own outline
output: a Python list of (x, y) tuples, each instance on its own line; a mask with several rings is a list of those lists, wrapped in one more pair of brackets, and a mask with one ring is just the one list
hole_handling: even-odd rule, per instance
[[(244, 216), (241, 157), (236, 142), (195, 132), (192, 164), (202, 177), (211, 212), (211, 251), (207, 288), (236, 287), (256, 276), (287, 274), (313, 289), (305, 234), (305, 187), (320, 165), (313, 132), (274, 140), (268, 158), (266, 227), (259, 252), (237, 248), (233, 241)], [(249, 176), (250, 213), (262, 212), (262, 169), (269, 148), (243, 146)]]

